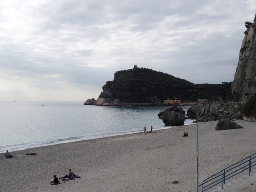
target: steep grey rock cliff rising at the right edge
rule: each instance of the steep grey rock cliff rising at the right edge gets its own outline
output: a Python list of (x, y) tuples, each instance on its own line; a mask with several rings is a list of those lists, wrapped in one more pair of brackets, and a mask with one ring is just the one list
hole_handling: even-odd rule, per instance
[[(256, 16), (255, 16), (256, 18)], [(256, 93), (256, 19), (245, 22), (245, 37), (239, 53), (239, 61), (232, 82), (232, 92), (240, 102), (246, 102)]]

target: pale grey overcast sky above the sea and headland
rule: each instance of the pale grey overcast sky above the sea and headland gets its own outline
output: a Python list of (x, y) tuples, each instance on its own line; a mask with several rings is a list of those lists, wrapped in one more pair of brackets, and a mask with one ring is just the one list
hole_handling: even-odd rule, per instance
[(12, 0), (0, 6), (0, 100), (97, 99), (137, 67), (231, 82), (255, 0)]

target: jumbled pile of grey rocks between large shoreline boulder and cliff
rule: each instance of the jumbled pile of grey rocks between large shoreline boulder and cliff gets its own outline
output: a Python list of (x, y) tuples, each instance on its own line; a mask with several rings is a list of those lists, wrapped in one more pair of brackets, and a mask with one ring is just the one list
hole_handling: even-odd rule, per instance
[(209, 103), (207, 99), (199, 99), (197, 105), (188, 108), (187, 116), (189, 119), (196, 119), (198, 112), (198, 122), (242, 119), (243, 116), (240, 110), (241, 106), (233, 103), (223, 101)]

